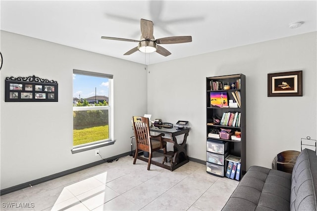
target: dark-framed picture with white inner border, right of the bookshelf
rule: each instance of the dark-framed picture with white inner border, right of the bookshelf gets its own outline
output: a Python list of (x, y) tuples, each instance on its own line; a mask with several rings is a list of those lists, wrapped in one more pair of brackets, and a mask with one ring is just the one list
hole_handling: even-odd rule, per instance
[(267, 74), (267, 96), (303, 96), (303, 71)]

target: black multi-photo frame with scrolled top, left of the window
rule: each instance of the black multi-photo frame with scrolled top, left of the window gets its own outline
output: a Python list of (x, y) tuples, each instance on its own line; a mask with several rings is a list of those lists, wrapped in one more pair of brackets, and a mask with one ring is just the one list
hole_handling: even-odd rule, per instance
[(5, 102), (58, 102), (58, 84), (36, 76), (6, 77)]

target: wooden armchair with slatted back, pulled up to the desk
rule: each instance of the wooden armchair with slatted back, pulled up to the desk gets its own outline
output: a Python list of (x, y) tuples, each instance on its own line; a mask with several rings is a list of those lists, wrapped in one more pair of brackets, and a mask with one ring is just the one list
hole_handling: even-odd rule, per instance
[(163, 149), (165, 153), (165, 145), (166, 143), (162, 141), (163, 133), (159, 135), (150, 135), (150, 125), (149, 119), (146, 117), (133, 117), (133, 130), (135, 135), (136, 149), (134, 153), (133, 164), (135, 164), (136, 160), (144, 161), (144, 158), (139, 156), (139, 150), (143, 150), (144, 152), (149, 152), (148, 159), (148, 170), (150, 170), (152, 153), (159, 149)]

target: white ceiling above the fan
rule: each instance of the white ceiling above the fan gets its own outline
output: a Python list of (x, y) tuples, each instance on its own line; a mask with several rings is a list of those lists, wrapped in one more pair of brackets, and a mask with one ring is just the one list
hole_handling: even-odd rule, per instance
[[(1, 0), (0, 29), (142, 64), (317, 31), (317, 0)], [(140, 19), (154, 22), (156, 39), (191, 35), (193, 42), (164, 44), (172, 54), (123, 55), (139, 40)], [(289, 23), (305, 23), (290, 29)]]

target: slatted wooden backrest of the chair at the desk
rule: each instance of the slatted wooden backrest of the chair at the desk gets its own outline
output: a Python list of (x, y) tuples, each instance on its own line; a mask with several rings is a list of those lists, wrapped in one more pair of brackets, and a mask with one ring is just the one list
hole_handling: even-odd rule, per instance
[(149, 119), (139, 116), (133, 117), (133, 130), (138, 149), (146, 152), (151, 151)]

